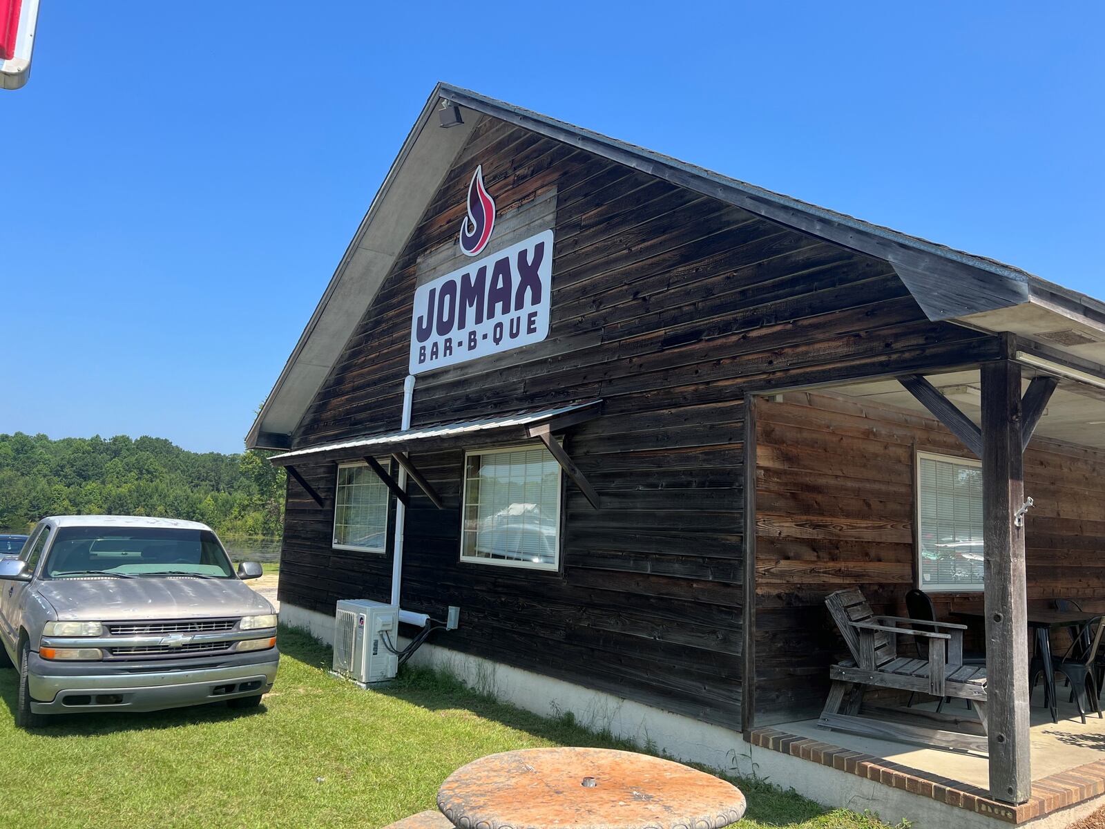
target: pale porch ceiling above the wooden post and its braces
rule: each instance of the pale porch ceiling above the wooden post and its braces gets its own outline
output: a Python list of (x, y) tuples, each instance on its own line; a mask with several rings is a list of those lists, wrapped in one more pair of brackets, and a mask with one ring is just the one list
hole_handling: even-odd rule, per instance
[[(1034, 369), (1028, 366), (1023, 367), (1024, 389), (1028, 388), (1029, 381), (1036, 374)], [(975, 423), (981, 421), (982, 408), (978, 369), (927, 375), (927, 378)], [(834, 386), (831, 391), (833, 395), (877, 402), (880, 406), (890, 406), (911, 413), (932, 417), (928, 410), (893, 378)], [(1094, 449), (1105, 449), (1105, 390), (1074, 380), (1061, 379), (1046, 409), (1044, 409), (1043, 417), (1040, 419), (1035, 437)]]

